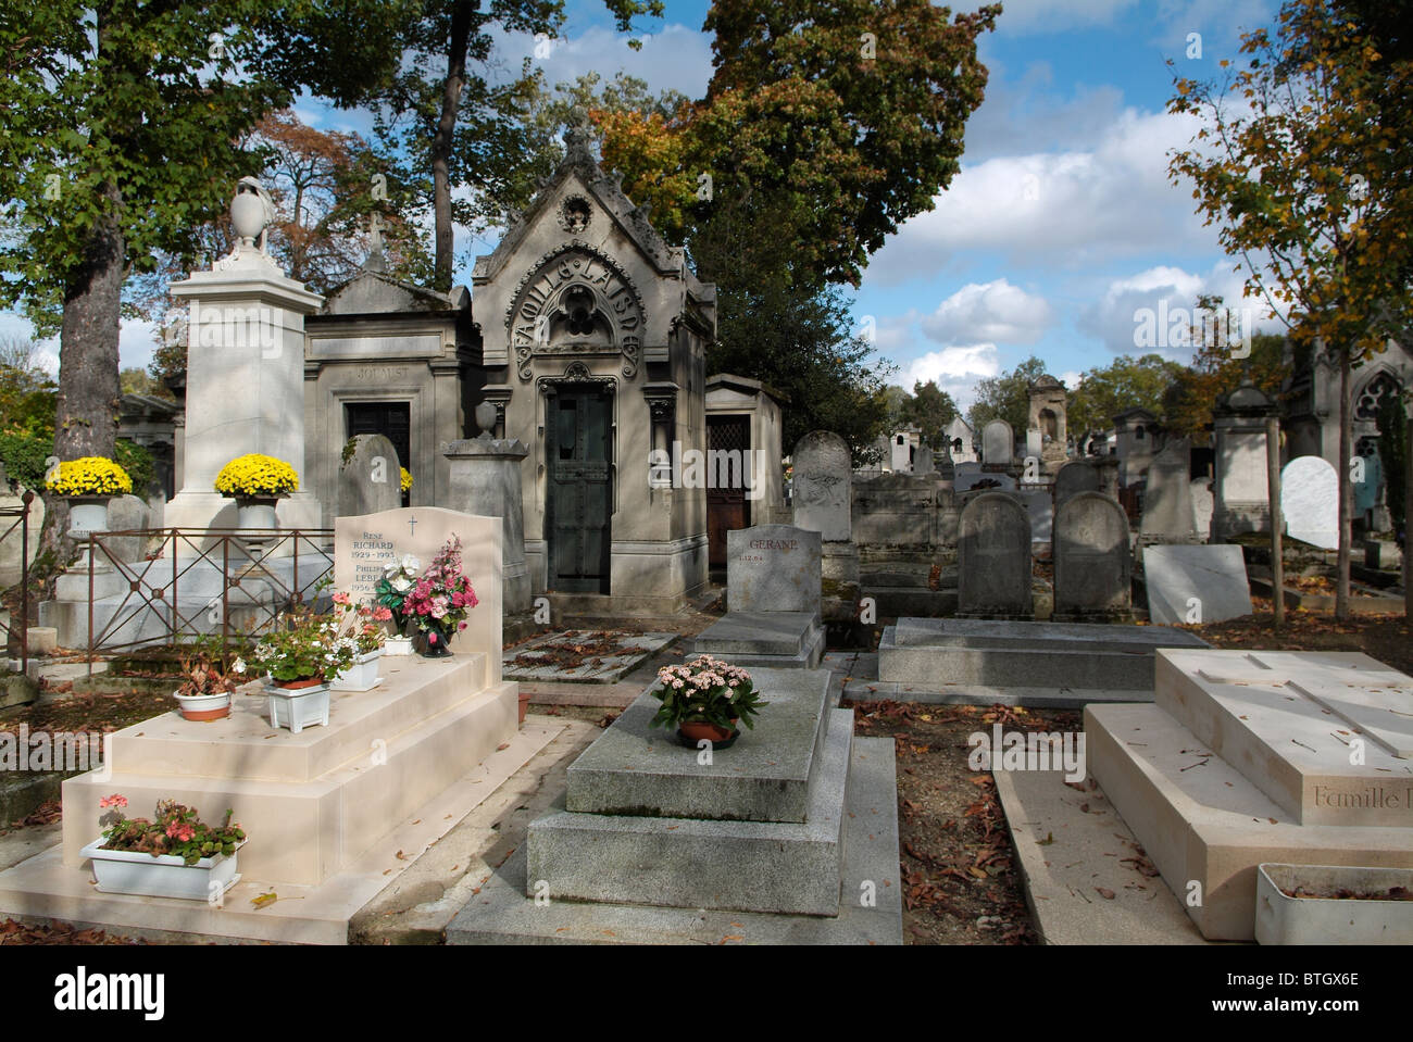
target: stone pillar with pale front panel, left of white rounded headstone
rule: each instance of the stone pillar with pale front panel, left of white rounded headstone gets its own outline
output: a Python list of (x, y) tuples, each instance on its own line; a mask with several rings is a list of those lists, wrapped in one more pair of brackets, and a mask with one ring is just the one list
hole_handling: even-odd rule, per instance
[(1266, 419), (1275, 412), (1275, 402), (1249, 377), (1212, 409), (1212, 535), (1218, 542), (1270, 531)]

